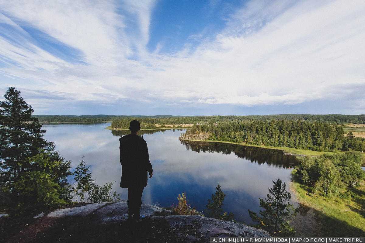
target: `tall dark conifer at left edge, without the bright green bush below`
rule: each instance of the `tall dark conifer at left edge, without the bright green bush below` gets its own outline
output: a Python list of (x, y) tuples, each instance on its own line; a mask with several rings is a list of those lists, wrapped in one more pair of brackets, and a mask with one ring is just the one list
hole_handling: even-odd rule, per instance
[(31, 167), (26, 158), (39, 153), (39, 149), (53, 150), (52, 142), (43, 139), (38, 118), (32, 117), (33, 109), (20, 91), (9, 87), (0, 102), (0, 163), (7, 181), (15, 181), (22, 172)]

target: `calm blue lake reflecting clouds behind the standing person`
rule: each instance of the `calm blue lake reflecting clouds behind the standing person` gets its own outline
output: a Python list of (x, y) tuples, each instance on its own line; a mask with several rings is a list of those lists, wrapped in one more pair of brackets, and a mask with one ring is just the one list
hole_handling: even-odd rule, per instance
[[(85, 157), (97, 184), (115, 181), (119, 188), (121, 166), (119, 137), (126, 133), (104, 129), (110, 123), (43, 125), (45, 138), (75, 167)], [(268, 150), (209, 142), (180, 142), (184, 130), (152, 131), (141, 134), (147, 141), (153, 177), (143, 191), (143, 203), (170, 206), (177, 195), (187, 193), (188, 203), (203, 211), (217, 184), (226, 193), (224, 209), (238, 220), (251, 223), (247, 209), (259, 211), (258, 197), (265, 197), (272, 180), (290, 180), (296, 163), (293, 156)], [(70, 182), (73, 180), (70, 178)]]

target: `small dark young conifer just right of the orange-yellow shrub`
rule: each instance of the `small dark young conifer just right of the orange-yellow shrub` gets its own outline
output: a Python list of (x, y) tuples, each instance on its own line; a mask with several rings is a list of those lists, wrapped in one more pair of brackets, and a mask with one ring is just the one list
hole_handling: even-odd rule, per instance
[(220, 185), (218, 184), (215, 188), (215, 194), (212, 194), (212, 199), (208, 199), (207, 204), (207, 215), (215, 218), (215, 219), (222, 219), (227, 221), (232, 221), (234, 219), (233, 213), (224, 212), (223, 213), (223, 201), (226, 194), (220, 189)]

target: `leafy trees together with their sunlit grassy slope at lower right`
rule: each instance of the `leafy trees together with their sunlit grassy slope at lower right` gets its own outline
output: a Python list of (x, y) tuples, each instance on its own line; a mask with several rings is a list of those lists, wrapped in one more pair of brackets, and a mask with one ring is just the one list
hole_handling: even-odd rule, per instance
[(365, 236), (363, 156), (351, 151), (306, 156), (293, 170), (301, 203), (318, 210), (321, 236)]

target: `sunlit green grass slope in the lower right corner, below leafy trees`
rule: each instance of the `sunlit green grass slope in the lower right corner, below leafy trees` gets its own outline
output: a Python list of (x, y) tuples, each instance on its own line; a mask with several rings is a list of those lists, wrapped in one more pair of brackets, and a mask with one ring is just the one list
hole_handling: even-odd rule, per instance
[(351, 195), (349, 199), (314, 195), (311, 187), (298, 181), (292, 182), (291, 189), (301, 204), (315, 211), (315, 219), (320, 225), (318, 236), (365, 236), (364, 181), (360, 187), (347, 190)]

